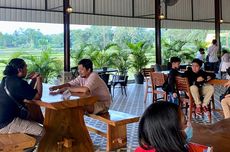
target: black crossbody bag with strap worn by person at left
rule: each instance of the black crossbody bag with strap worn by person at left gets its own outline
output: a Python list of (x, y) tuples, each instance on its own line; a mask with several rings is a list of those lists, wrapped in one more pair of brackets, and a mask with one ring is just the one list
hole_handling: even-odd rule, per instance
[(11, 95), (10, 91), (7, 89), (6, 80), (7, 80), (7, 78), (5, 79), (4, 90), (5, 90), (6, 94), (11, 98), (11, 100), (14, 101), (16, 103), (16, 105), (18, 106), (19, 118), (28, 119), (28, 117), (29, 117), (28, 109), (25, 106), (23, 106), (22, 104), (18, 103), (18, 101)]

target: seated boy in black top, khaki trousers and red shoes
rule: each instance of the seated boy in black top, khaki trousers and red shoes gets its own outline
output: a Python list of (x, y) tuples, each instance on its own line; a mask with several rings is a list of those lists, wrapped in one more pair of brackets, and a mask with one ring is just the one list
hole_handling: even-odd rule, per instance
[[(209, 80), (215, 78), (214, 73), (208, 73), (201, 70), (202, 61), (194, 59), (192, 61), (192, 68), (185, 71), (185, 76), (188, 77), (190, 84), (190, 91), (196, 104), (196, 114), (200, 115), (208, 110), (207, 105), (214, 93), (214, 87), (207, 84)], [(204, 96), (203, 103), (200, 96)]]

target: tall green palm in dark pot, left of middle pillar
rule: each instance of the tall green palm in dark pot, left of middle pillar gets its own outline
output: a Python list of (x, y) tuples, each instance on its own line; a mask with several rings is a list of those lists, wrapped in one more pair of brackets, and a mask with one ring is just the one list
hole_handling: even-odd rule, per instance
[(135, 70), (135, 82), (137, 84), (143, 84), (144, 77), (141, 71), (149, 62), (149, 59), (145, 55), (149, 45), (146, 42), (138, 42), (127, 43), (127, 46), (131, 51), (130, 65)]

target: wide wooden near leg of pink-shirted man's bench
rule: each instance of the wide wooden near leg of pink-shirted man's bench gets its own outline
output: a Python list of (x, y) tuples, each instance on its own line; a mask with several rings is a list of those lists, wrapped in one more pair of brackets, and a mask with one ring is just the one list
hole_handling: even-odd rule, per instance
[(123, 148), (126, 147), (126, 145), (127, 145), (126, 125), (112, 126), (108, 124), (106, 151)]

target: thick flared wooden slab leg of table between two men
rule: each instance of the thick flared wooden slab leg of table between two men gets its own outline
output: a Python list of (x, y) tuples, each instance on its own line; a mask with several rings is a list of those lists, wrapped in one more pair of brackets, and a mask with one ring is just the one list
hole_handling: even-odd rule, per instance
[(53, 110), (46, 108), (46, 133), (38, 152), (93, 152), (93, 144), (84, 122), (82, 107)]

